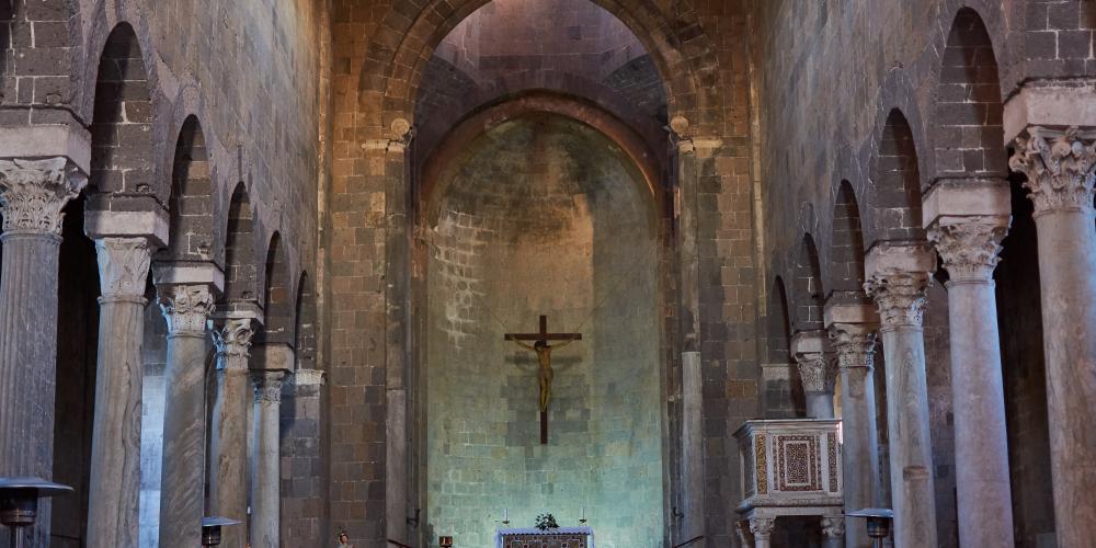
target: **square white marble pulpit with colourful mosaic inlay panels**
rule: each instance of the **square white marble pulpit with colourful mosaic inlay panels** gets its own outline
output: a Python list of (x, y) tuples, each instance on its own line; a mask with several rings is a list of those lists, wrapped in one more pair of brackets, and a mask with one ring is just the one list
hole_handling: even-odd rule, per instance
[(742, 502), (740, 534), (768, 548), (780, 516), (819, 516), (826, 546), (844, 537), (840, 420), (749, 421), (739, 441)]

